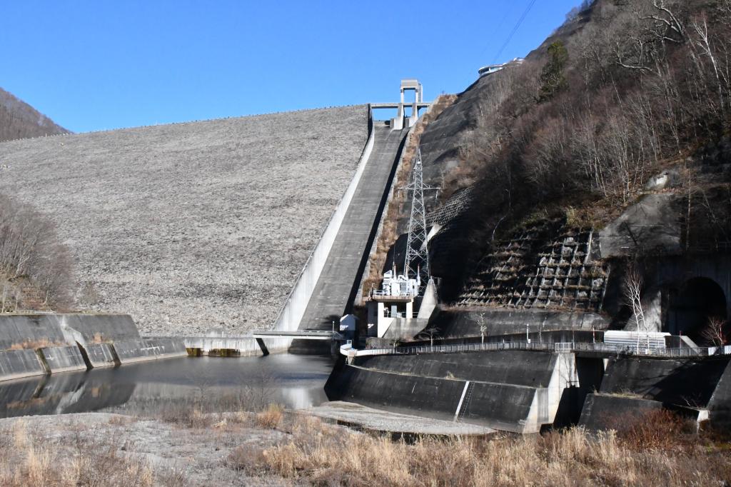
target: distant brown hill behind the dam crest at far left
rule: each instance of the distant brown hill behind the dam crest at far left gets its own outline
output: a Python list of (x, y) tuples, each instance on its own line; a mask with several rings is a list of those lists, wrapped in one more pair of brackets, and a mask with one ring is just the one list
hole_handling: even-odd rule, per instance
[(0, 142), (67, 133), (67, 129), (0, 88)]

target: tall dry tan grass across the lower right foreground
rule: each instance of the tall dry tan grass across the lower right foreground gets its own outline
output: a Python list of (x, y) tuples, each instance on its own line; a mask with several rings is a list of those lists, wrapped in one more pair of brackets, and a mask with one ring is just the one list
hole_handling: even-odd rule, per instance
[[(684, 434), (670, 429), (665, 438)], [(652, 429), (621, 436), (575, 428), (530, 437), (427, 437), (407, 444), (309, 418), (292, 429), (289, 442), (269, 449), (240, 445), (227, 464), (248, 475), (269, 472), (315, 485), (705, 486), (731, 480), (728, 443), (697, 437), (645, 441), (657, 436)]]

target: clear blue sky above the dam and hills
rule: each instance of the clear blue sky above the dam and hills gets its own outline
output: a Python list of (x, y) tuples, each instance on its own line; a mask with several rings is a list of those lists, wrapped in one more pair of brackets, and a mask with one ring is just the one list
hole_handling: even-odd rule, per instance
[(74, 132), (425, 99), (525, 56), (580, 0), (14, 1), (0, 87)]

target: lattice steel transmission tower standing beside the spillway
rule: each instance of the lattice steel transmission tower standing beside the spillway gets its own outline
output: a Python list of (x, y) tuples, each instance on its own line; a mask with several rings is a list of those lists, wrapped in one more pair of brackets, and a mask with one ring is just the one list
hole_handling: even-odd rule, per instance
[(402, 191), (413, 192), (412, 213), (409, 218), (409, 239), (406, 241), (406, 263), (404, 276), (406, 279), (419, 279), (419, 294), (429, 282), (429, 249), (426, 242), (426, 211), (424, 209), (424, 191), (439, 189), (436, 186), (425, 186), (421, 150), (417, 148), (416, 161), (412, 168), (412, 181), (402, 186)]

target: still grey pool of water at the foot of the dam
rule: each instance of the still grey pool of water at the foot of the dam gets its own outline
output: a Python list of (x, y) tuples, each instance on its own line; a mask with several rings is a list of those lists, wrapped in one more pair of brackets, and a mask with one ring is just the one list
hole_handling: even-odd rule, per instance
[(176, 358), (0, 382), (0, 418), (106, 411), (156, 415), (176, 407), (205, 412), (289, 408), (327, 401), (328, 358), (270, 355)]

